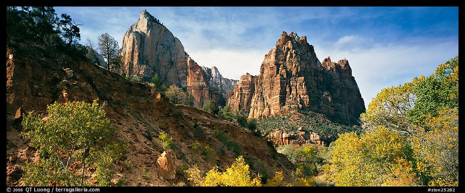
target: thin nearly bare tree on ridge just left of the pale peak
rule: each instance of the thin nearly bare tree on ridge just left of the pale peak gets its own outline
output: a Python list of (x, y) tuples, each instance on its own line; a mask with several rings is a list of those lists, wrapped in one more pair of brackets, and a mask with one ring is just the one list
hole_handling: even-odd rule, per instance
[(111, 37), (108, 33), (101, 34), (98, 37), (98, 50), (100, 55), (106, 60), (108, 64), (107, 70), (118, 71), (121, 68), (121, 56), (118, 41)]

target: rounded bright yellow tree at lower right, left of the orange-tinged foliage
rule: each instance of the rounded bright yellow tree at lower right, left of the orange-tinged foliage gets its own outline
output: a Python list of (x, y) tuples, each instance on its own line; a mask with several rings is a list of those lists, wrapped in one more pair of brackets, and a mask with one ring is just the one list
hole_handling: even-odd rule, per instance
[(411, 157), (407, 141), (383, 127), (360, 136), (355, 132), (341, 134), (331, 153), (333, 156), (324, 168), (337, 186), (383, 185), (398, 160)]

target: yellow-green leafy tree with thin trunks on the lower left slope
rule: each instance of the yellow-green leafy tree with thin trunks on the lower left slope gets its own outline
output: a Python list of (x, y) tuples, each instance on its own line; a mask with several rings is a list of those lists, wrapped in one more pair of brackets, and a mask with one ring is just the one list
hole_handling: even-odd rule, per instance
[[(109, 125), (98, 100), (93, 103), (54, 103), (47, 107), (48, 118), (26, 115), (22, 122), (30, 146), (40, 150), (38, 163), (27, 163), (22, 180), (28, 185), (89, 185), (85, 168), (97, 168), (99, 184), (109, 185), (111, 163), (123, 151), (123, 143), (113, 138), (117, 128)], [(91, 177), (91, 175), (87, 175)], [(106, 180), (105, 180), (106, 179)]]

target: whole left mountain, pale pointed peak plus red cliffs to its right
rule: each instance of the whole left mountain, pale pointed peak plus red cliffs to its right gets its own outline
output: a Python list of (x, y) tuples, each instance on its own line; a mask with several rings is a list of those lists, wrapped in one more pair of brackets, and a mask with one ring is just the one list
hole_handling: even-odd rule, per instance
[[(134, 73), (143, 81), (159, 74), (167, 85), (187, 87), (198, 107), (208, 100), (224, 104), (227, 93), (237, 83), (223, 78), (215, 67), (197, 68), (198, 64), (189, 58), (179, 39), (146, 10), (126, 32), (121, 55), (123, 62), (132, 65)], [(128, 74), (128, 67), (123, 71)]]

